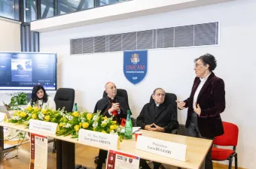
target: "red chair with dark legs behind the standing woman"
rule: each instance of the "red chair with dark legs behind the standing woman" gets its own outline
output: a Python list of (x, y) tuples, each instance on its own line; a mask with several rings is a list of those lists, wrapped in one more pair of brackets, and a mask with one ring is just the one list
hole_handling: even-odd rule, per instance
[[(222, 122), (224, 127), (224, 134), (215, 137), (213, 140), (214, 147), (212, 147), (212, 160), (215, 161), (230, 161), (228, 168), (232, 168), (233, 157), (235, 158), (235, 168), (237, 169), (237, 153), (236, 145), (238, 140), (238, 127), (230, 122)], [(232, 149), (220, 149), (215, 146), (233, 146)]]

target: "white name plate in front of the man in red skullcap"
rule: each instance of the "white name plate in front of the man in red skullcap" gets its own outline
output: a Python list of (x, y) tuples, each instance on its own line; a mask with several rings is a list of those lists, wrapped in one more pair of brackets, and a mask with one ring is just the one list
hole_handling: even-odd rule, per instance
[(108, 149), (117, 149), (118, 136), (115, 134), (105, 134), (96, 131), (80, 129), (78, 133), (78, 141), (88, 145), (94, 144), (99, 147)]

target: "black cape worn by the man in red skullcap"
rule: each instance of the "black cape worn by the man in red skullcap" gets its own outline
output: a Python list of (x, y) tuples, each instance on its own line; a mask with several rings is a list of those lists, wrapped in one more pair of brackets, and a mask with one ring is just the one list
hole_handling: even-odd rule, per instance
[[(128, 107), (128, 104), (126, 103), (126, 100), (122, 97), (116, 96), (114, 100), (120, 105), (120, 113), (117, 114), (117, 116), (114, 116), (114, 120), (117, 120), (117, 123), (120, 124), (121, 119), (126, 118), (127, 110), (129, 110), (129, 107)], [(108, 96), (106, 96), (105, 98), (102, 98), (99, 101), (97, 101), (93, 112), (96, 113), (97, 110), (100, 110), (101, 111), (100, 114), (102, 116), (111, 117), (111, 115), (108, 113), (108, 108), (110, 107), (111, 105), (110, 105), (110, 102), (108, 101)]]

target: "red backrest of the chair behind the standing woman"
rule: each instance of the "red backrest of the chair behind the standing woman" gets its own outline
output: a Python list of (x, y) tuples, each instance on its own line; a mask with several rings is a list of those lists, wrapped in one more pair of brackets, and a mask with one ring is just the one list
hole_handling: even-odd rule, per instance
[(239, 129), (236, 125), (230, 122), (222, 122), (224, 134), (215, 137), (213, 144), (218, 146), (236, 146), (238, 140)]

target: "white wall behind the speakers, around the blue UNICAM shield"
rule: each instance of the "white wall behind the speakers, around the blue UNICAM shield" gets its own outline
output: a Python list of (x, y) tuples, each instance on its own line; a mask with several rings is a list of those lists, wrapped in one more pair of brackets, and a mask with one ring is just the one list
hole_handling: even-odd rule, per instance
[[(227, 107), (221, 117), (239, 126), (237, 147), (239, 167), (256, 168), (256, 142), (253, 88), (256, 86), (256, 2), (236, 0), (218, 5), (190, 8), (165, 14), (102, 23), (56, 32), (41, 33), (41, 52), (58, 53), (58, 85), (76, 90), (78, 106), (93, 111), (108, 81), (128, 91), (133, 116), (149, 101), (156, 87), (174, 92), (183, 100), (190, 95), (194, 80), (193, 60), (212, 53), (218, 60), (215, 74), (224, 79)], [(123, 53), (98, 53), (70, 56), (69, 40), (98, 35), (111, 35), (146, 29), (221, 22), (221, 44), (215, 47), (187, 47), (149, 50), (148, 75), (134, 86), (123, 75)], [(178, 112), (180, 123), (186, 110)]]

